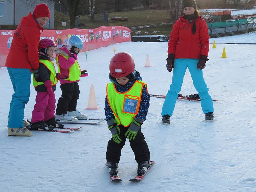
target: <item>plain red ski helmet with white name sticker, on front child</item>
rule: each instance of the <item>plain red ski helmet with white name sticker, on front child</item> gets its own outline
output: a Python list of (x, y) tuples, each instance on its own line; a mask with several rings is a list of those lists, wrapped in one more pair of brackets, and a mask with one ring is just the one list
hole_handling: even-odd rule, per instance
[(116, 53), (109, 63), (109, 72), (113, 77), (124, 77), (134, 72), (135, 64), (132, 55), (127, 52)]

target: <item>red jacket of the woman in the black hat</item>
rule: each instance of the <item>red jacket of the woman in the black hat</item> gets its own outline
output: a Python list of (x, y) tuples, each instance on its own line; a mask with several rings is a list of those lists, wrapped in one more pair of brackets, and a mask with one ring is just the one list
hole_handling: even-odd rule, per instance
[[(196, 22), (196, 33), (191, 28)], [(189, 24), (183, 16), (177, 20), (173, 27), (168, 43), (168, 55), (173, 53), (174, 59), (200, 59), (200, 54), (208, 56), (209, 35), (208, 26), (202, 17), (199, 16)]]

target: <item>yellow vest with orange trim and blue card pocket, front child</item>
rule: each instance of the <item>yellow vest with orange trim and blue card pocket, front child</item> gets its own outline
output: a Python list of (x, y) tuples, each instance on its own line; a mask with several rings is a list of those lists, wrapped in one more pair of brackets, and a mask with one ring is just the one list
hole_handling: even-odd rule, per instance
[(140, 109), (144, 85), (147, 88), (147, 84), (143, 81), (136, 80), (127, 92), (120, 93), (116, 91), (114, 83), (107, 84), (108, 104), (114, 113), (117, 125), (128, 127), (133, 122)]

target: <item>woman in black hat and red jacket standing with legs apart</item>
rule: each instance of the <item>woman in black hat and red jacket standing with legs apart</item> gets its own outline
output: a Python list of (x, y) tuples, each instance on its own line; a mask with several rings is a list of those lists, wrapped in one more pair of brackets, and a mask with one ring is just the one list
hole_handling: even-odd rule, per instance
[(170, 124), (170, 117), (183, 83), (183, 77), (188, 68), (193, 84), (201, 98), (201, 107), (205, 121), (213, 120), (213, 103), (204, 82), (202, 69), (208, 61), (209, 35), (208, 27), (196, 10), (195, 0), (183, 0), (184, 15), (180, 16), (172, 28), (168, 43), (166, 68), (172, 71), (172, 84), (166, 94), (162, 108), (162, 122)]

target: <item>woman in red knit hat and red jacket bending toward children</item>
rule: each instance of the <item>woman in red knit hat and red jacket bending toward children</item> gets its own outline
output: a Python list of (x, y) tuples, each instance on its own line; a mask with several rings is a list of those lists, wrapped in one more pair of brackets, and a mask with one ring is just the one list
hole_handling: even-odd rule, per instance
[(38, 44), (40, 30), (50, 19), (46, 4), (36, 5), (33, 15), (22, 17), (12, 39), (5, 66), (7, 67), (14, 93), (8, 116), (9, 136), (32, 136), (23, 124), (25, 104), (30, 96), (31, 72), (39, 76)]

